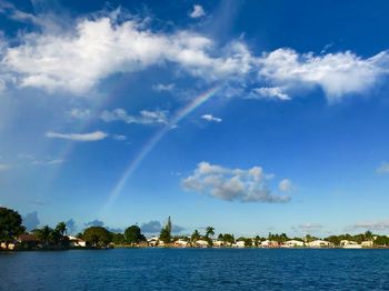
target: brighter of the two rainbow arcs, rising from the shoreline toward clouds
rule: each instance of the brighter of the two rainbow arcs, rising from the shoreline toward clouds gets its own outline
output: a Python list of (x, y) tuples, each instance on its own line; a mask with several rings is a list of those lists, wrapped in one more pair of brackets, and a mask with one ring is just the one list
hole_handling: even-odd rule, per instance
[(170, 120), (168, 124), (166, 124), (161, 130), (157, 131), (154, 136), (152, 136), (139, 151), (133, 160), (130, 161), (128, 167), (126, 168), (123, 174), (121, 175), (118, 183), (110, 191), (107, 208), (110, 205), (121, 193), (123, 187), (126, 185), (128, 179), (132, 175), (132, 173), (138, 169), (139, 164), (142, 160), (149, 154), (149, 152), (157, 146), (157, 143), (169, 132), (178, 122), (180, 122), (184, 117), (189, 116), (192, 111), (194, 111), (198, 107), (213, 97), (219, 90), (221, 86), (216, 86), (206, 92), (201, 93), (189, 104), (180, 109), (174, 117)]

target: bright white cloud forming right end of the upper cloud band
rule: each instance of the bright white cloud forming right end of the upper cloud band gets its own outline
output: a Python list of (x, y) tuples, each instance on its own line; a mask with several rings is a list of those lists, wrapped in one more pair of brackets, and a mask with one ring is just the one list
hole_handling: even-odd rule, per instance
[(258, 59), (259, 74), (293, 90), (319, 87), (329, 101), (346, 94), (363, 93), (388, 74), (389, 54), (383, 51), (362, 59), (350, 51), (315, 56), (278, 49)]

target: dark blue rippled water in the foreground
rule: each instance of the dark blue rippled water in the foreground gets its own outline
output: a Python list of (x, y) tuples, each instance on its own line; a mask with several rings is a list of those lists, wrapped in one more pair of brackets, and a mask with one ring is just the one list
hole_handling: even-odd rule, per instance
[(0, 253), (1, 290), (389, 290), (389, 250)]

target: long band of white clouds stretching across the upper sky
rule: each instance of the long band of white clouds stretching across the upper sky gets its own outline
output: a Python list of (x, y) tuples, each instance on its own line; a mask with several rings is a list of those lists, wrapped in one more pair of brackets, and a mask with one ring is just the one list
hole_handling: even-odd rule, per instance
[[(23, 14), (13, 6), (2, 9), (6, 13), (10, 9), (19, 20), (54, 26), (38, 23), (42, 17)], [(345, 96), (368, 92), (389, 73), (387, 51), (362, 58), (350, 51), (315, 54), (283, 48), (256, 56), (242, 40), (220, 47), (208, 37), (186, 30), (156, 31), (147, 21), (134, 18), (119, 22), (118, 13), (87, 16), (61, 29), (20, 32), (18, 44), (1, 39), (0, 90), (12, 84), (83, 94), (113, 73), (168, 63), (207, 82), (227, 81), (226, 87), (240, 96), (288, 100), (297, 91), (320, 88), (329, 102), (336, 102)], [(194, 6), (191, 14), (200, 17), (205, 12), (201, 6)], [(257, 87), (255, 92), (247, 93), (247, 84)], [(153, 88), (172, 89), (173, 84)]]

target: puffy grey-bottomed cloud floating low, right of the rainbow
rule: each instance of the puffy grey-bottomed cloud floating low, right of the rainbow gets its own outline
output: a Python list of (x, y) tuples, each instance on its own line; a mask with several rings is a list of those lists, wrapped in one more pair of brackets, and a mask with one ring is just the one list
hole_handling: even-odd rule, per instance
[(193, 173), (182, 180), (182, 187), (227, 201), (289, 202), (290, 197), (275, 195), (269, 190), (267, 181), (272, 177), (260, 167), (241, 170), (200, 162)]

